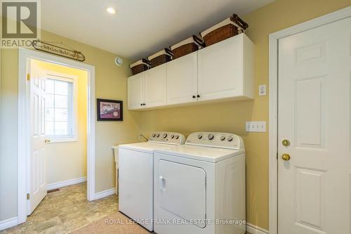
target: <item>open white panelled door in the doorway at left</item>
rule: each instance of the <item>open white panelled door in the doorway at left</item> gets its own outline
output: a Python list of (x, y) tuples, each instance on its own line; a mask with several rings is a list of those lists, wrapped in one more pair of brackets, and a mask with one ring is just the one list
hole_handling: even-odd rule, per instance
[(45, 75), (35, 63), (29, 63), (30, 74), (30, 188), (27, 214), (32, 214), (46, 196), (45, 174)]

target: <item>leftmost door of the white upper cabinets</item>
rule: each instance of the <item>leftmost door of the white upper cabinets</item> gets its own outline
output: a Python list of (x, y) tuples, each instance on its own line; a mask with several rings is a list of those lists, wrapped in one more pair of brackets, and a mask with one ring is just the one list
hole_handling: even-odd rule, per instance
[(143, 79), (145, 72), (128, 77), (128, 109), (140, 109), (143, 103)]

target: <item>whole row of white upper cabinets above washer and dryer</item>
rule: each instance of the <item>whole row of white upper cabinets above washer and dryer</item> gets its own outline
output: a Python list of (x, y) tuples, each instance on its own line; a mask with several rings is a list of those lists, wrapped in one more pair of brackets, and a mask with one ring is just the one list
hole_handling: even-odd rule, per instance
[(128, 109), (253, 98), (254, 45), (239, 34), (128, 78)]

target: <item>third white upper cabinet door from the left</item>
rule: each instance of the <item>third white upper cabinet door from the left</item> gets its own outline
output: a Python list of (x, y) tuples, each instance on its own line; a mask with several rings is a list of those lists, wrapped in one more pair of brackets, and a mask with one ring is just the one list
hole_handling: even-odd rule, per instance
[(167, 104), (197, 101), (197, 52), (167, 63)]

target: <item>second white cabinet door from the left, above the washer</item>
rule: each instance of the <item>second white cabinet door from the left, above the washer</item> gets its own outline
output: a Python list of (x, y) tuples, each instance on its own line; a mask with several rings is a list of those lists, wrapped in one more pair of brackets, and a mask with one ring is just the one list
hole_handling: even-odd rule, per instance
[(147, 70), (145, 77), (145, 108), (166, 104), (166, 64)]

